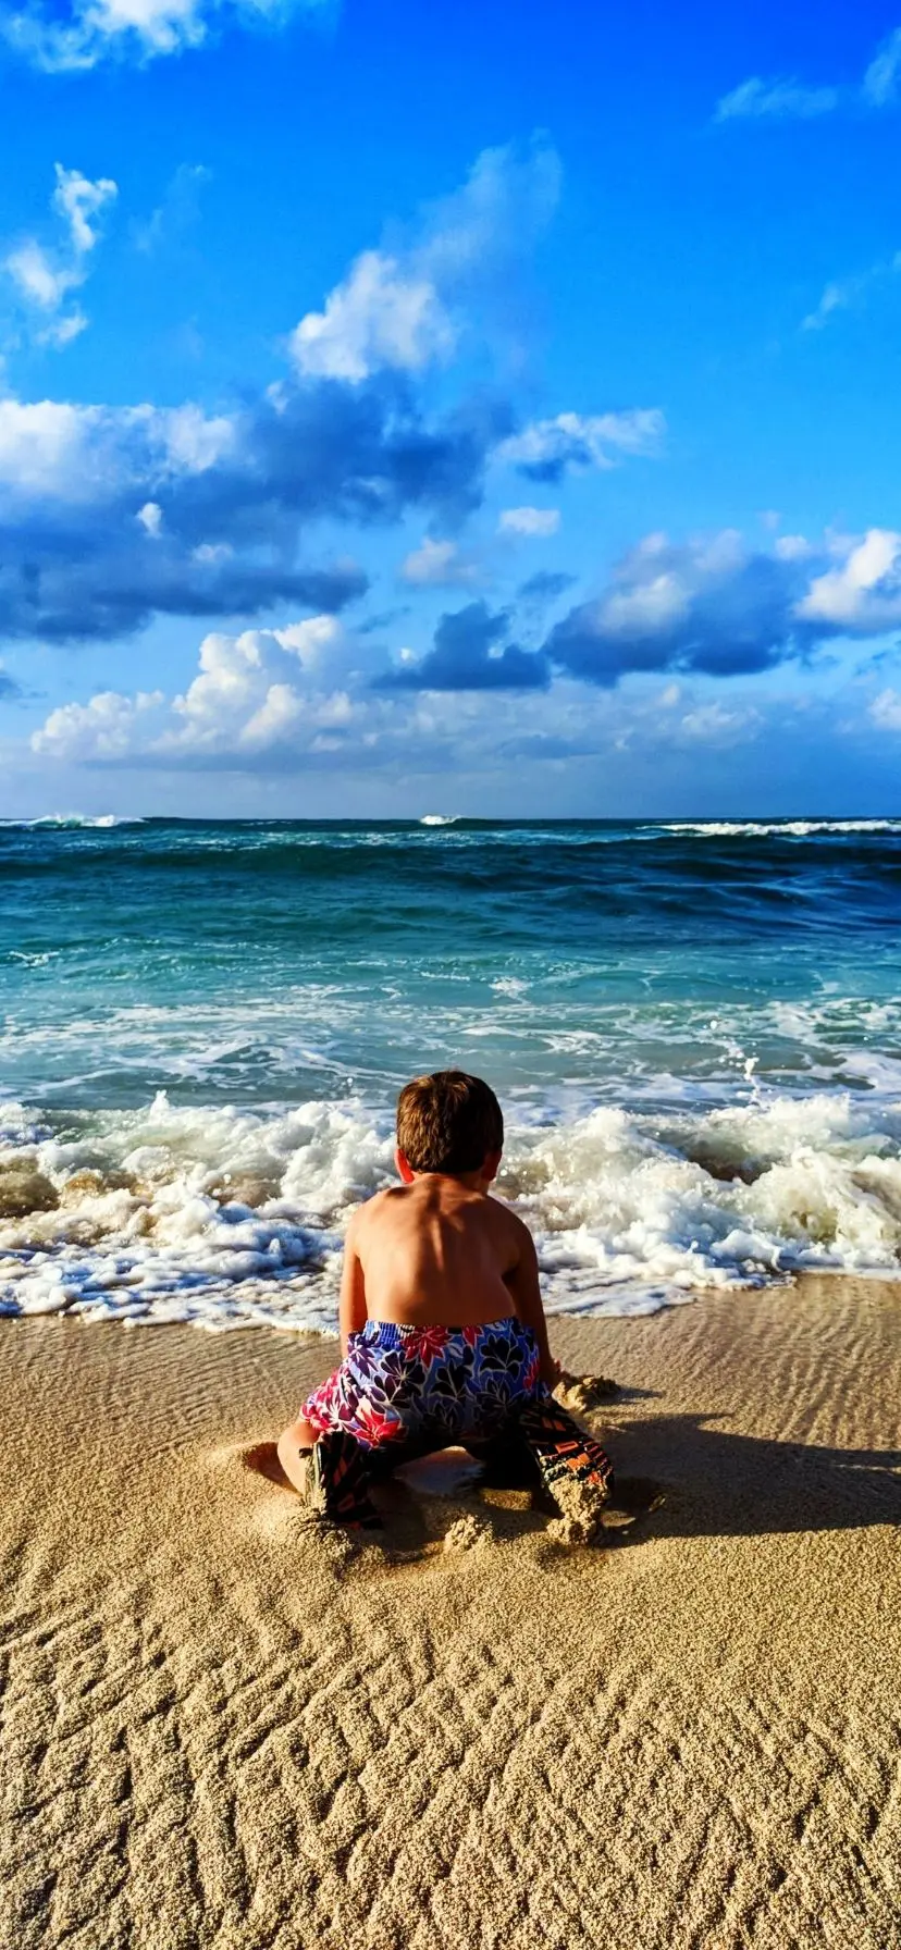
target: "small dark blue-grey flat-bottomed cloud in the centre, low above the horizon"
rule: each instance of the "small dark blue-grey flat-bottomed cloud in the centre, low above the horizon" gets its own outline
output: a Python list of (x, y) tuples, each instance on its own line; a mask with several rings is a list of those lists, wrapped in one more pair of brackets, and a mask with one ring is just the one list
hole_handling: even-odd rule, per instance
[[(378, 690), (534, 690), (550, 682), (546, 659), (509, 636), (505, 610), (486, 603), (447, 612), (425, 657), (410, 651), (394, 671), (376, 679)], [(503, 647), (501, 647), (503, 644)]]

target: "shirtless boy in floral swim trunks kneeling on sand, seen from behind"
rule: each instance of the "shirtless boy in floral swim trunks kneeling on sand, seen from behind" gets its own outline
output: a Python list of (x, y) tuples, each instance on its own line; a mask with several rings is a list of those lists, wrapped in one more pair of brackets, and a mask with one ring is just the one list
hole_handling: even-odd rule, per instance
[(341, 1365), (279, 1439), (302, 1496), (337, 1521), (378, 1523), (376, 1474), (450, 1443), (519, 1443), (571, 1515), (605, 1502), (605, 1451), (552, 1400), (558, 1363), (529, 1227), (490, 1186), (501, 1106), (480, 1076), (439, 1071), (398, 1100), (400, 1186), (359, 1207), (341, 1277)]

